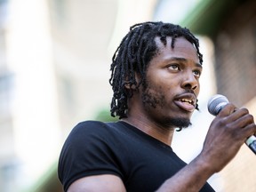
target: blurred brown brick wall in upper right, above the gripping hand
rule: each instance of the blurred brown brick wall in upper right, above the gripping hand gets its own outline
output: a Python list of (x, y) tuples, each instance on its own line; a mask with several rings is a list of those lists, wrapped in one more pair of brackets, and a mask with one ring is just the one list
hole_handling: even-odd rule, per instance
[(256, 1), (223, 20), (215, 44), (218, 92), (241, 107), (256, 95)]

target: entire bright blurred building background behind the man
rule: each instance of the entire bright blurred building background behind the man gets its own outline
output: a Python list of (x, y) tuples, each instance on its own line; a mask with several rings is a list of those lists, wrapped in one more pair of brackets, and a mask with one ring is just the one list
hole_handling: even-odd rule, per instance
[[(0, 0), (0, 191), (62, 191), (60, 148), (87, 119), (109, 119), (112, 54), (129, 27), (164, 20), (201, 41), (200, 112), (177, 132), (174, 151), (189, 162), (221, 93), (256, 116), (256, 4), (253, 0)], [(256, 191), (246, 146), (209, 180), (216, 191)]]

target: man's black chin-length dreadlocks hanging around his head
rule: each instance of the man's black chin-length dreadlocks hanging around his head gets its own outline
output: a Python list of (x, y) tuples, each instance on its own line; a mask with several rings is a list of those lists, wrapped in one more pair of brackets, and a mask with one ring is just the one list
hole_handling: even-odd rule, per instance
[[(111, 116), (119, 116), (119, 119), (126, 117), (127, 100), (132, 97), (134, 91), (138, 91), (140, 84), (145, 79), (149, 61), (158, 52), (156, 36), (160, 37), (164, 45), (167, 44), (166, 37), (172, 36), (172, 48), (174, 48), (176, 38), (185, 37), (195, 46), (199, 62), (201, 65), (203, 64), (203, 55), (199, 52), (198, 39), (188, 28), (181, 28), (179, 25), (162, 21), (148, 21), (133, 25), (112, 57), (109, 79), (113, 90)], [(139, 82), (136, 81), (135, 74), (140, 76)], [(125, 85), (134, 87), (134, 89), (127, 89)], [(196, 109), (198, 109), (197, 102)]]

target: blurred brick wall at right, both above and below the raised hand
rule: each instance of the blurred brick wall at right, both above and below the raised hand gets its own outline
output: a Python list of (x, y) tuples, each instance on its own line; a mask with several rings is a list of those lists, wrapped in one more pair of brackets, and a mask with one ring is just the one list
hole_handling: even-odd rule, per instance
[[(256, 117), (256, 1), (244, 1), (223, 18), (214, 43), (218, 93), (237, 107), (251, 100), (246, 107)], [(220, 175), (225, 192), (256, 191), (256, 156), (244, 145)]]

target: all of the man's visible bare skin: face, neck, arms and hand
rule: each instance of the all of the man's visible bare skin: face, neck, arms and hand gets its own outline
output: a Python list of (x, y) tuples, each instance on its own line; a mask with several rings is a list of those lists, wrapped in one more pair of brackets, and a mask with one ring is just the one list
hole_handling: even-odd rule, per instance
[[(170, 45), (171, 37), (167, 38), (166, 46), (157, 38), (156, 44), (160, 51), (149, 63), (148, 85), (146, 88), (140, 86), (134, 93), (128, 102), (127, 118), (122, 120), (171, 146), (174, 128), (177, 124), (188, 126), (195, 110), (202, 68), (196, 49), (186, 39), (177, 38), (174, 49)], [(132, 87), (127, 85), (127, 89)], [(143, 101), (145, 98), (147, 101)], [(156, 105), (150, 104), (152, 100)], [(199, 191), (212, 174), (220, 172), (236, 156), (244, 141), (255, 132), (256, 125), (248, 110), (228, 104), (212, 121), (201, 153), (165, 180), (157, 191)], [(119, 177), (105, 174), (76, 180), (68, 191), (122, 192), (125, 188)]]

